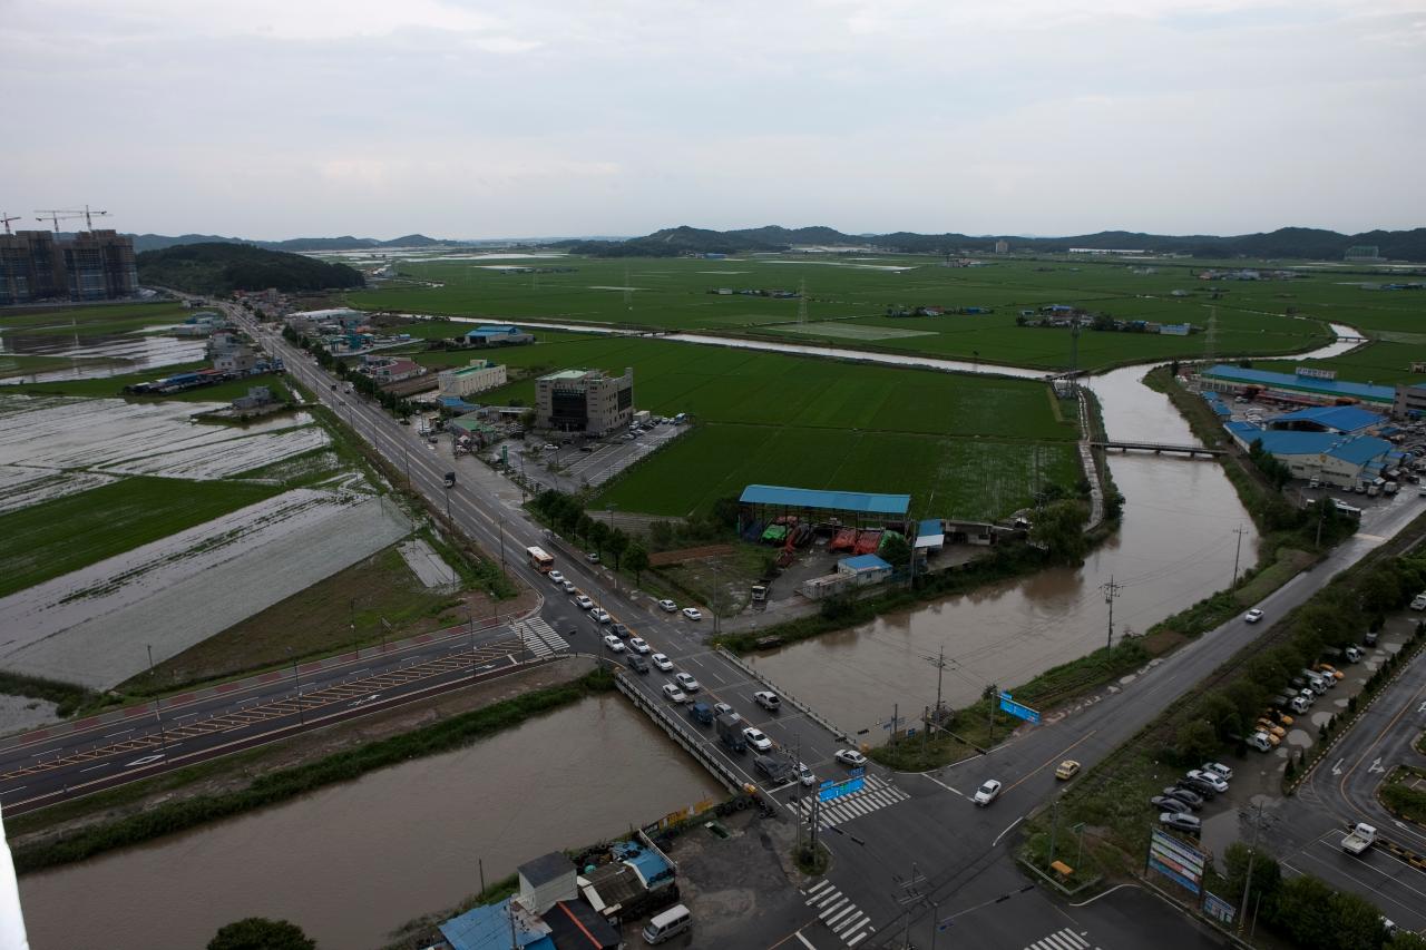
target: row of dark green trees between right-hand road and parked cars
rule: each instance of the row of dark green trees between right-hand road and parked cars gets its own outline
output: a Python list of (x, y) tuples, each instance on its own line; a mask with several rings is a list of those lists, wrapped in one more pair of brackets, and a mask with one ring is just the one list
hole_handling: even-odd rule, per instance
[(1387, 611), (1400, 609), (1426, 586), (1426, 555), (1392, 558), (1350, 578), (1338, 578), (1302, 605), (1291, 620), (1288, 639), (1259, 652), (1239, 668), (1228, 685), (1205, 693), (1178, 729), (1174, 759), (1202, 762), (1222, 743), (1252, 732), (1273, 695), (1328, 648), (1360, 640), (1366, 629), (1380, 629)]

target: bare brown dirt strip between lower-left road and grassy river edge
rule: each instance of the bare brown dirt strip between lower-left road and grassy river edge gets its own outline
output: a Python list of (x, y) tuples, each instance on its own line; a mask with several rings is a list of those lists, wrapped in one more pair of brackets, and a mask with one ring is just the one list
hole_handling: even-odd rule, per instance
[(590, 669), (593, 669), (593, 662), (583, 658), (570, 658), (536, 666), (523, 673), (483, 682), (469, 689), (443, 693), (409, 706), (401, 706), (399, 709), (302, 733), (301, 736), (261, 746), (231, 759), (221, 759), (212, 763), (211, 775), (185, 786), (168, 787), (164, 785), (163, 777), (153, 779), (141, 783), (147, 792), (137, 800), (125, 800), (121, 805), (107, 806), (104, 805), (104, 796), (100, 795), (94, 799), (80, 799), (54, 809), (24, 814), (6, 822), (10, 832), (10, 842), (16, 847), (23, 847), (31, 842), (58, 836), (88, 824), (125, 817), (165, 802), (242, 789), (270, 772), (312, 762), (366, 742), (409, 732), (458, 713), (512, 699), (530, 689), (565, 683), (583, 676)]

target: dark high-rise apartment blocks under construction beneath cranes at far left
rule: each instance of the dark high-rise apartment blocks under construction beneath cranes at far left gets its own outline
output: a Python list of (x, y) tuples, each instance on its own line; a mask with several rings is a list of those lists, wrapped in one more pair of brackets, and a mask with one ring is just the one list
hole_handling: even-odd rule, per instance
[(0, 304), (117, 300), (138, 292), (134, 241), (117, 231), (0, 234)]

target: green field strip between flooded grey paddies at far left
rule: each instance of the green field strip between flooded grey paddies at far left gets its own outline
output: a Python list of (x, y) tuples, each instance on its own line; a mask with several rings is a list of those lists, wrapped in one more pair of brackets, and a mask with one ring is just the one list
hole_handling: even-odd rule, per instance
[(0, 515), (0, 596), (277, 495), (270, 485), (131, 476)]

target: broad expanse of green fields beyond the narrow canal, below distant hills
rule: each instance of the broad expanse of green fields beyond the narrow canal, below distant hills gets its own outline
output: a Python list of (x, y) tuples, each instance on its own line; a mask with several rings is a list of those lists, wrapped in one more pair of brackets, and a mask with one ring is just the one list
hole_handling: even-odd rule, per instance
[[(1159, 264), (1154, 272), (1097, 261), (997, 261), (992, 267), (947, 268), (931, 257), (881, 255), (877, 257), (881, 267), (807, 257), (556, 258), (532, 264), (575, 271), (532, 277), (502, 274), (469, 261), (408, 260), (401, 265), (404, 272), (442, 285), (355, 292), (348, 294), (348, 301), (366, 310), (726, 332), (1045, 369), (1070, 364), (1068, 331), (1017, 327), (1015, 320), (1021, 310), (1048, 304), (1072, 304), (1118, 320), (1192, 322), (1201, 330), (1208, 322), (1208, 307), (1215, 305), (1221, 354), (1293, 352), (1326, 341), (1319, 324), (1276, 315), (1285, 310), (1283, 301), (1238, 304), (1236, 290), (1211, 301), (1196, 280), (1199, 262)], [(800, 281), (807, 285), (806, 325), (797, 324), (796, 298), (709, 292), (716, 287), (796, 290)], [(627, 302), (625, 287), (636, 288), (627, 292)], [(1318, 288), (1332, 288), (1332, 281), (1303, 278), (1265, 287), (1272, 291), (1291, 287), (1310, 298)], [(1175, 290), (1188, 295), (1174, 297)], [(990, 307), (995, 312), (887, 317), (888, 307), (921, 305)], [(1089, 331), (1081, 334), (1078, 365), (1105, 369), (1192, 358), (1204, 354), (1204, 341), (1202, 332), (1164, 337)]]

